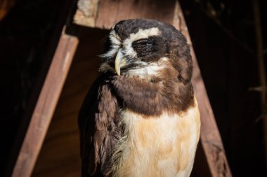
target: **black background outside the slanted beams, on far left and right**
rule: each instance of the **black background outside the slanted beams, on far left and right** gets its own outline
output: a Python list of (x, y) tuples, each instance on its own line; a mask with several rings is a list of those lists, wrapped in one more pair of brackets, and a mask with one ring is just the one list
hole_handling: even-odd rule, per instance
[[(0, 176), (19, 149), (70, 1), (17, 0), (0, 21)], [(0, 7), (4, 1), (0, 1)], [(180, 1), (233, 176), (266, 176), (252, 1)], [(267, 3), (259, 1), (263, 51)], [(65, 11), (66, 12), (65, 12)], [(64, 13), (65, 12), (65, 13)], [(1, 16), (0, 16), (1, 17)], [(267, 128), (267, 127), (265, 127)], [(15, 141), (17, 140), (17, 141)]]

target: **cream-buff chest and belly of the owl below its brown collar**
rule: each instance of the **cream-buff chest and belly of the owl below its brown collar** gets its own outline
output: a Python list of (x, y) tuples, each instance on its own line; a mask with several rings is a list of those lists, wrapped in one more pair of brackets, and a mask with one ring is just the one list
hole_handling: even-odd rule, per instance
[(200, 131), (197, 108), (158, 118), (124, 111), (120, 118), (125, 133), (116, 147), (114, 176), (189, 176)]

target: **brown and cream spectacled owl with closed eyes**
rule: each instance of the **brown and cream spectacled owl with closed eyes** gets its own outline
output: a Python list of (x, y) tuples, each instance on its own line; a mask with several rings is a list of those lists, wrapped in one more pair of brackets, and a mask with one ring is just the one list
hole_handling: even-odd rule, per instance
[(79, 111), (82, 176), (190, 176), (200, 137), (185, 36), (157, 20), (122, 20)]

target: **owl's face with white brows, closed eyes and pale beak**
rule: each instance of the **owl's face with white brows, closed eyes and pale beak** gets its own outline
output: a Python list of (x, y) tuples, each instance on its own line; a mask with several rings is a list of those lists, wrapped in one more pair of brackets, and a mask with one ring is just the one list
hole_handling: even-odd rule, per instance
[[(178, 31), (157, 20), (123, 20), (110, 29), (100, 71), (117, 75), (147, 77), (162, 69), (170, 59)], [(175, 52), (173, 52), (175, 54)]]

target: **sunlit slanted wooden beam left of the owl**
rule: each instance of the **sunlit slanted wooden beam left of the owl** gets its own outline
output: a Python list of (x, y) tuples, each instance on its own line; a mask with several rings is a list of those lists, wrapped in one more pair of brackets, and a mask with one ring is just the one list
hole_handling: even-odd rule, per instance
[(30, 176), (70, 69), (78, 39), (62, 34), (13, 169), (13, 177)]

